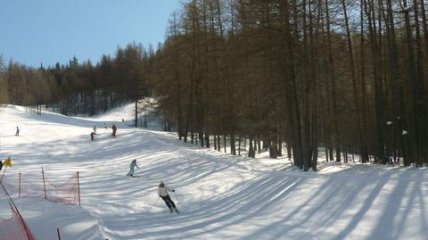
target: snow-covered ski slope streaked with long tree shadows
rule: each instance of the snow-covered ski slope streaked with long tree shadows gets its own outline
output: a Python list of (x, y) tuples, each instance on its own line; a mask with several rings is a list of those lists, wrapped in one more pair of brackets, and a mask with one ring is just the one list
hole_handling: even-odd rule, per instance
[[(428, 239), (425, 169), (321, 163), (319, 172), (301, 172), (286, 159), (234, 157), (127, 128), (123, 115), (0, 108), (0, 157), (13, 163), (6, 180), (42, 167), (50, 178), (80, 173), (81, 206), (15, 198), (37, 239), (57, 239), (56, 228), (71, 240)], [(104, 122), (118, 125), (118, 137)], [(140, 178), (125, 176), (133, 159)], [(179, 202), (171, 198), (181, 213), (170, 214), (161, 200), (152, 208), (161, 180), (176, 188)]]

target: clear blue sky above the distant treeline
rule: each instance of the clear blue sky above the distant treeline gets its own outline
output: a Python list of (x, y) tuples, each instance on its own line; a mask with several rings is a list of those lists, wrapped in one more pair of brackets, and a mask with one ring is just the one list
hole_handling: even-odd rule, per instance
[(163, 42), (178, 0), (1, 0), (0, 54), (38, 67), (41, 62), (98, 62), (118, 46)]

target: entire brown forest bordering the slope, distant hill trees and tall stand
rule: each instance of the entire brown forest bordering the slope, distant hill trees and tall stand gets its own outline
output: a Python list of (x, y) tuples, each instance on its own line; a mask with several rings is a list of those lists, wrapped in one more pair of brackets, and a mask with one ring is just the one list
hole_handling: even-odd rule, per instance
[[(303, 170), (317, 170), (318, 151), (327, 161), (356, 153), (362, 162), (423, 166), (427, 4), (187, 0), (155, 53), (130, 45), (95, 66), (73, 60), (18, 71), (23, 67), (11, 63), (0, 84), (8, 85), (11, 103), (62, 103), (84, 114), (156, 95), (166, 128), (180, 139), (207, 147), (214, 139), (216, 149), (227, 144), (232, 154), (243, 141), (251, 157), (266, 148), (276, 158), (285, 146)], [(17, 98), (20, 79), (43, 74), (43, 95), (23, 85)]]

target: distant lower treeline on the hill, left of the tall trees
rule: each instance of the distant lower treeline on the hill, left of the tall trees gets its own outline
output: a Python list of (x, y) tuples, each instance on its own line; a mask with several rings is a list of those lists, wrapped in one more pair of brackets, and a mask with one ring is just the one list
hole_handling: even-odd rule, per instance
[(67, 64), (39, 68), (0, 57), (0, 103), (44, 105), (65, 115), (92, 116), (149, 95), (152, 46), (118, 47), (113, 57), (103, 55), (95, 65), (79, 63), (74, 56)]

